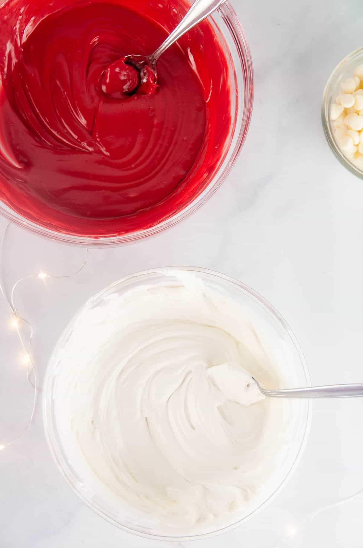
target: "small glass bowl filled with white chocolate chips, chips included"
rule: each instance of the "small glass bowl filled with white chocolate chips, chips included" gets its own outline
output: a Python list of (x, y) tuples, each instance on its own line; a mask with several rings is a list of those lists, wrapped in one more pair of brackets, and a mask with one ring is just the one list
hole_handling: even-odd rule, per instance
[(333, 70), (321, 115), (332, 151), (363, 178), (363, 48), (347, 55)]

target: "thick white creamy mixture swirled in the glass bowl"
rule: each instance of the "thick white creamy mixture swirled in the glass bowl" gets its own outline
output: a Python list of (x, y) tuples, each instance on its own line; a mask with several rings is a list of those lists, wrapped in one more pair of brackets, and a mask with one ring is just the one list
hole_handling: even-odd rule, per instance
[(191, 532), (249, 512), (284, 458), (290, 414), (251, 379), (283, 386), (241, 306), (189, 282), (79, 316), (58, 351), (55, 408), (93, 492)]

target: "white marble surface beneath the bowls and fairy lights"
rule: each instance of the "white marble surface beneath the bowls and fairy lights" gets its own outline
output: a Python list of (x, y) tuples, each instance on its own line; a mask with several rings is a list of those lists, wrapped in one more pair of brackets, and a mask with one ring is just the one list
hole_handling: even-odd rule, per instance
[[(236, 167), (179, 226), (131, 247), (92, 250), (78, 277), (47, 280), (45, 287), (24, 283), (16, 306), (36, 327), (40, 378), (86, 298), (133, 271), (183, 264), (225, 272), (270, 300), (300, 340), (313, 383), (363, 380), (363, 181), (333, 157), (320, 122), (327, 77), (362, 45), (361, 2), (232, 3), (256, 79), (250, 132)], [(10, 286), (39, 269), (68, 273), (82, 259), (79, 249), (13, 227), (3, 256), (6, 281)], [(2, 301), (0, 326), (3, 443), (24, 425), (32, 394)], [(361, 399), (314, 402), (301, 464), (273, 505), (225, 535), (196, 541), (197, 548), (362, 546), (363, 494), (324, 510), (363, 489), (362, 413)], [(1, 548), (163, 545), (122, 532), (78, 500), (50, 458), (39, 404), (31, 430), (0, 453), (0, 535)]]

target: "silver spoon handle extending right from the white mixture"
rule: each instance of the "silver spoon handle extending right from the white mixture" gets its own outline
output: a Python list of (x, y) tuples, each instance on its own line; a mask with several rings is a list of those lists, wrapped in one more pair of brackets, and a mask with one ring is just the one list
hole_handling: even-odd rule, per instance
[(260, 387), (260, 390), (265, 396), (273, 398), (356, 398), (363, 396), (363, 384), (335, 384), (289, 390), (266, 390)]

